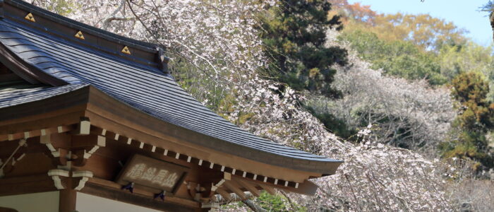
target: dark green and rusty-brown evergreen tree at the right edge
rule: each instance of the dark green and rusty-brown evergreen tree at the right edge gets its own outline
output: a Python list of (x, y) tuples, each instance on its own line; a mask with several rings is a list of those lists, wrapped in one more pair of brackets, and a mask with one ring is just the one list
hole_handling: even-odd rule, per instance
[(486, 100), (489, 85), (478, 72), (461, 73), (452, 81), (452, 95), (461, 104), (454, 122), (458, 131), (452, 141), (440, 148), (446, 158), (470, 158), (484, 167), (494, 167), (486, 134), (494, 129), (494, 103)]

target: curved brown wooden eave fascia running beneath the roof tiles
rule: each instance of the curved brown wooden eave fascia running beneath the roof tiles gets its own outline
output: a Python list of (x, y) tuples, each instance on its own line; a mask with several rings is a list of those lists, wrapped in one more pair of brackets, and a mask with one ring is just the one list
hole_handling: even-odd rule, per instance
[[(0, 109), (0, 134), (16, 134), (59, 125), (77, 124), (88, 117), (92, 126), (131, 138), (149, 146), (181, 153), (215, 165), (255, 175), (302, 183), (318, 172), (308, 171), (311, 162), (297, 161), (227, 143), (135, 110), (92, 86), (52, 98)], [(336, 170), (339, 164), (332, 167)], [(327, 170), (327, 167), (324, 167)], [(332, 173), (330, 173), (332, 174)]]

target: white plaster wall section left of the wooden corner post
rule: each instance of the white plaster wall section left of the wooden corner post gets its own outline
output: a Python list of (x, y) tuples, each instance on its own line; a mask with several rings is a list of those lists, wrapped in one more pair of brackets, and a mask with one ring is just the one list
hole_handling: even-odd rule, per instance
[(0, 196), (0, 207), (19, 212), (56, 212), (59, 211), (59, 192)]

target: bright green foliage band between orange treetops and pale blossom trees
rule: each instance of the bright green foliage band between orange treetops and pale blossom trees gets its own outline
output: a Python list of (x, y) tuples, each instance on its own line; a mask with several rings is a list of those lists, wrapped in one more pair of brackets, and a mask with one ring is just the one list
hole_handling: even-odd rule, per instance
[(432, 85), (446, 83), (435, 61), (435, 54), (423, 52), (413, 42), (382, 40), (375, 33), (361, 30), (343, 33), (342, 40), (351, 44), (359, 55), (392, 76), (407, 79), (427, 79)]

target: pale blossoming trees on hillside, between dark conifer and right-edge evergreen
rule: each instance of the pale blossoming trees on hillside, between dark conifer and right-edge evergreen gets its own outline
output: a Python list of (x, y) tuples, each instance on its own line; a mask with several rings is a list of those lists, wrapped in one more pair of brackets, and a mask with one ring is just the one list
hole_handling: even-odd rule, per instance
[[(338, 42), (336, 32), (328, 45), (349, 45)], [(391, 146), (434, 155), (435, 146), (447, 138), (455, 117), (452, 97), (447, 88), (431, 88), (426, 81), (407, 81), (385, 76), (369, 68), (355, 52), (349, 56), (351, 66), (337, 67), (333, 86), (343, 98), (311, 98), (306, 105), (316, 112), (329, 112), (351, 128), (372, 125), (373, 139)]]

